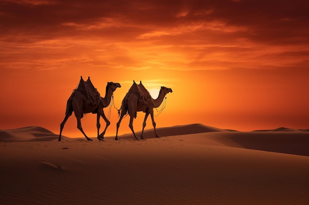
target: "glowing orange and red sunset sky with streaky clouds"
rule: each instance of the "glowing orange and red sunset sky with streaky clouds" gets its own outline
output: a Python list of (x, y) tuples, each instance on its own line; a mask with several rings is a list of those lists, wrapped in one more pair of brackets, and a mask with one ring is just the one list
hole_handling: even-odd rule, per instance
[[(308, 10), (308, 0), (0, 0), (0, 129), (58, 134), (80, 76), (101, 96), (120, 83), (116, 108), (133, 80), (172, 88), (157, 127), (309, 128)], [(113, 105), (106, 136), (117, 117)], [(81, 123), (96, 137), (95, 115)], [(83, 136), (74, 114), (63, 135)]]

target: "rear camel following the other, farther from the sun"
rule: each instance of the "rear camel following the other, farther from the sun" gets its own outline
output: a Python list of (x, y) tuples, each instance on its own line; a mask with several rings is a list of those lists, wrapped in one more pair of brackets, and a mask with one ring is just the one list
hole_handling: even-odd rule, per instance
[[(81, 78), (80, 80), (83, 81), (82, 77), (80, 77), (80, 78)], [(88, 81), (90, 82), (89, 77), (88, 77), (87, 82)], [(86, 92), (85, 89), (77, 88), (76, 90), (74, 90), (74, 92), (72, 93), (72, 95), (70, 96), (70, 98), (67, 101), (66, 116), (64, 117), (64, 120), (60, 124), (60, 134), (59, 134), (58, 141), (61, 141), (61, 133), (62, 133), (63, 127), (64, 127), (67, 119), (72, 115), (73, 111), (74, 111), (75, 117), (77, 118), (77, 128), (81, 131), (81, 133), (85, 136), (85, 138), (88, 141), (92, 141), (92, 139), (88, 138), (87, 135), (82, 130), (80, 118), (83, 117), (84, 113), (97, 114), (97, 129), (98, 129), (97, 138), (98, 138), (98, 140), (103, 140), (106, 129), (111, 124), (111, 122), (105, 116), (103, 108), (106, 108), (111, 103), (111, 98), (112, 98), (113, 92), (116, 90), (116, 88), (121, 88), (119, 83), (108, 82), (107, 86), (106, 86), (105, 97), (101, 97), (100, 94), (96, 91), (98, 93), (99, 103), (87, 103), (86, 98), (85, 98), (85, 94), (84, 94), (84, 92)], [(105, 120), (106, 127), (105, 127), (104, 131), (99, 135), (99, 129), (101, 127), (100, 116), (103, 117), (103, 119)]]

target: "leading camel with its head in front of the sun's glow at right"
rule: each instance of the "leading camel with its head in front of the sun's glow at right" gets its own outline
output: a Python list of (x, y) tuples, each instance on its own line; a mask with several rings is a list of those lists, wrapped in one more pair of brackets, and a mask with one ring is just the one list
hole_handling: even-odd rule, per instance
[[(135, 82), (133, 81), (133, 85), (135, 84)], [(142, 84), (142, 82), (140, 82), (140, 85)], [(137, 85), (137, 84), (136, 84)], [(144, 86), (143, 86), (144, 88)], [(146, 90), (146, 88), (144, 88)], [(147, 91), (147, 90), (146, 90)], [(148, 91), (147, 91), (148, 92)], [(156, 129), (155, 129), (155, 122), (154, 122), (154, 108), (157, 108), (161, 105), (165, 95), (169, 92), (173, 92), (171, 88), (165, 88), (165, 87), (161, 87), (160, 91), (159, 91), (159, 95), (156, 99), (153, 99), (151, 97), (151, 95), (149, 94), (149, 97), (151, 98), (151, 100), (149, 100), (148, 102), (146, 103), (141, 103), (138, 99), (138, 96), (136, 93), (134, 92), (129, 92), (126, 94), (126, 96), (123, 98), (122, 100), (122, 103), (121, 103), (121, 107), (120, 109), (118, 110), (118, 114), (121, 110), (121, 115), (120, 115), (120, 118), (117, 122), (117, 130), (116, 130), (116, 138), (115, 140), (118, 140), (118, 129), (119, 129), (119, 126), (120, 126), (120, 122), (122, 120), (122, 118), (127, 114), (129, 114), (130, 116), (130, 122), (129, 122), (129, 127), (135, 137), (136, 140), (139, 140), (138, 137), (136, 137), (136, 134), (133, 130), (133, 117), (136, 118), (137, 116), (137, 112), (140, 112), (140, 111), (143, 111), (145, 114), (145, 118), (144, 118), (144, 122), (143, 122), (143, 129), (142, 129), (142, 133), (141, 133), (141, 139), (145, 139), (143, 137), (143, 133), (144, 133), (144, 128), (146, 126), (146, 120), (147, 120), (147, 117), (151, 116), (152, 118), (152, 121), (153, 121), (153, 126), (154, 126), (154, 133), (155, 133), (155, 137), (160, 137), (157, 132), (156, 132)]]

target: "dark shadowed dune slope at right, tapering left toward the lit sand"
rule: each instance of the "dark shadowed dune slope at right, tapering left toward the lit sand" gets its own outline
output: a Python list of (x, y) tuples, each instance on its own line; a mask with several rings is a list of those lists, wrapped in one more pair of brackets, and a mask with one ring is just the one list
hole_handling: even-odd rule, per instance
[(213, 132), (185, 137), (190, 143), (309, 156), (309, 132)]

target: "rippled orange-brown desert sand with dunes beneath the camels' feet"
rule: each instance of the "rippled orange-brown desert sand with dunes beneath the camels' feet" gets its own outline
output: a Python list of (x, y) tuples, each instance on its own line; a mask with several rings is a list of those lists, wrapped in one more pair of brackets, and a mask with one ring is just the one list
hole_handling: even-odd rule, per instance
[(0, 130), (1, 205), (307, 205), (309, 132), (201, 124), (63, 137)]

